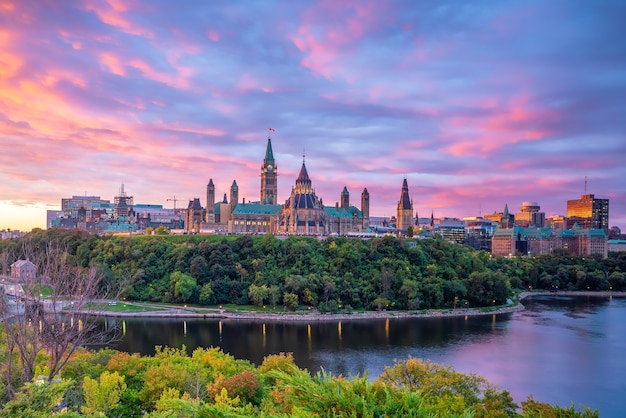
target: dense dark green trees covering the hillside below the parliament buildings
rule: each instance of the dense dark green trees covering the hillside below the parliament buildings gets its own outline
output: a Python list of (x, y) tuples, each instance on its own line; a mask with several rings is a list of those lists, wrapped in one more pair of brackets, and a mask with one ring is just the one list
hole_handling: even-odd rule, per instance
[(63, 242), (76, 265), (137, 301), (310, 306), (321, 311), (502, 305), (512, 289), (626, 290), (626, 254), (492, 257), (443, 240), (97, 236), (33, 231), (0, 242), (6, 269)]

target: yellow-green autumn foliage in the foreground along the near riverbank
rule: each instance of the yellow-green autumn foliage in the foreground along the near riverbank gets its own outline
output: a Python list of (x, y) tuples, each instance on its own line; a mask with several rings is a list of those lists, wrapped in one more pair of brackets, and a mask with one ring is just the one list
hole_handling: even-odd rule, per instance
[[(41, 359), (45, 363), (45, 354)], [(188, 355), (184, 347), (157, 347), (152, 357), (79, 352), (62, 379), (27, 383), (11, 399), (6, 395), (0, 385), (0, 417), (599, 416), (532, 397), (520, 409), (507, 391), (480, 376), (414, 358), (370, 381), (323, 372), (311, 376), (289, 354), (270, 355), (255, 367), (217, 348)]]

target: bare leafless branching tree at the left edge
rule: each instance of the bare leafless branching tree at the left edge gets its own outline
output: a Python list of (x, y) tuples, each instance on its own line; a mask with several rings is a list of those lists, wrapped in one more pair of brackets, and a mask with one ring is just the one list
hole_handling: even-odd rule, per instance
[[(104, 344), (109, 333), (98, 331), (93, 300), (103, 299), (101, 272), (76, 265), (71, 239), (55, 239), (38, 233), (22, 241), (21, 254), (38, 268), (32, 280), (22, 283), (23, 295), (0, 298), (0, 321), (6, 335), (7, 391), (13, 397), (14, 363), (20, 381), (35, 374), (37, 358), (45, 354), (46, 380), (51, 382), (81, 346)], [(67, 238), (67, 237), (66, 237)]]

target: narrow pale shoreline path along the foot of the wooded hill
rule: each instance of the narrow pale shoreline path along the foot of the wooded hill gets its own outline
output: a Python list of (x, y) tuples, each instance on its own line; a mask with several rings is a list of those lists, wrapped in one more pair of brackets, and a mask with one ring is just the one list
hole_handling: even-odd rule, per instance
[[(439, 317), (463, 317), (476, 315), (499, 315), (509, 312), (523, 311), (521, 303), (527, 297), (549, 295), (554, 297), (592, 296), (592, 297), (626, 297), (626, 292), (613, 291), (558, 291), (558, 292), (522, 292), (519, 295), (520, 302), (495, 307), (483, 308), (458, 308), (458, 309), (429, 309), (417, 311), (367, 311), (354, 313), (320, 313), (318, 311), (296, 312), (226, 312), (218, 308), (197, 308), (159, 304), (145, 304), (140, 302), (115, 302), (126, 305), (145, 307), (145, 311), (114, 312), (114, 311), (89, 311), (90, 315), (113, 317), (113, 318), (197, 318), (197, 319), (224, 319), (224, 320), (254, 320), (254, 321), (344, 321), (360, 319), (386, 319), (386, 318), (439, 318)], [(157, 310), (155, 310), (157, 309)]]

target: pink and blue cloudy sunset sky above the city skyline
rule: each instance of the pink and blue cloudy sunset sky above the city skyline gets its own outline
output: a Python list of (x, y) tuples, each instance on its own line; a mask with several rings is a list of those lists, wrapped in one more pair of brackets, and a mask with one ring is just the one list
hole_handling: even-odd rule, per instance
[[(0, 0), (0, 229), (61, 198), (278, 197), (303, 155), (394, 216), (610, 199), (626, 229), (626, 2)], [(269, 128), (275, 129), (270, 132)], [(586, 179), (586, 180), (585, 180)]]

